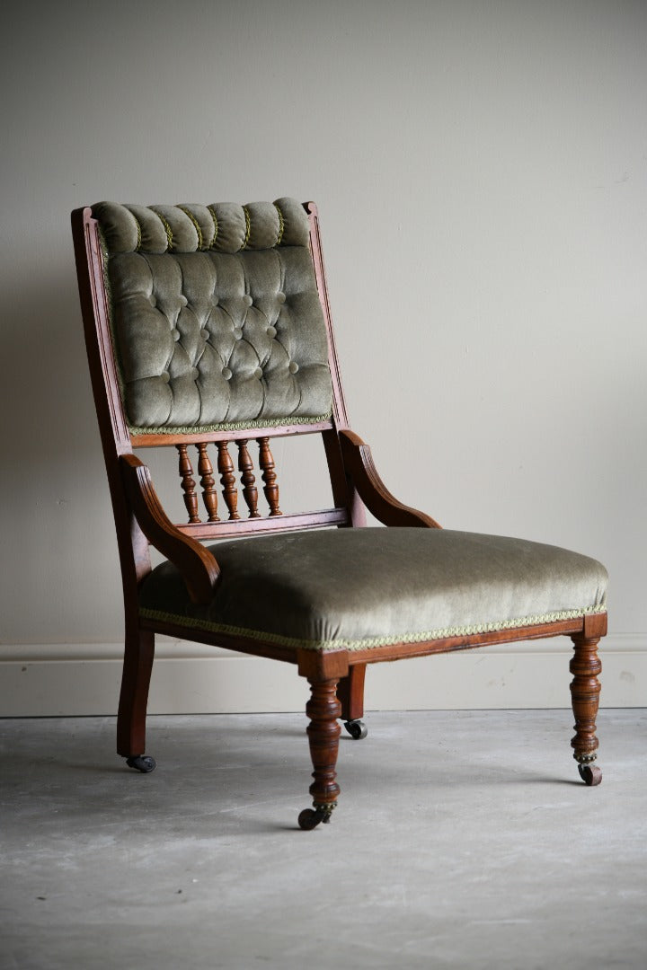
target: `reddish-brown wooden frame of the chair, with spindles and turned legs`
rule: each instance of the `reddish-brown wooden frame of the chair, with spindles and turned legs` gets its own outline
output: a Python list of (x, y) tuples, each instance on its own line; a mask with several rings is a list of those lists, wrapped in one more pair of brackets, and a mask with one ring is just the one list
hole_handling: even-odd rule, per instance
[[(340, 737), (338, 719), (342, 718), (346, 722), (346, 727), (353, 736), (362, 737), (366, 733), (361, 718), (364, 715), (365, 672), (369, 663), (567, 635), (574, 647), (570, 662), (570, 671), (573, 674), (570, 690), (575, 717), (575, 735), (571, 740), (573, 757), (578, 762), (585, 783), (598, 784), (601, 773), (593, 763), (598, 748), (596, 716), (600, 690), (598, 674), (601, 669), (597, 648), (600, 637), (606, 632), (606, 613), (497, 632), (452, 636), (424, 643), (396, 643), (372, 649), (323, 653), (306, 649), (295, 652), (272, 642), (244, 639), (208, 630), (190, 630), (173, 623), (147, 620), (140, 616), (138, 589), (151, 570), (149, 544), (178, 566), (195, 602), (208, 602), (220, 570), (216, 559), (200, 540), (323, 526), (362, 528), (366, 524), (365, 508), (385, 526), (440, 528), (434, 519), (404, 505), (391, 495), (374, 468), (371, 449), (349, 428), (320, 244), (318, 214), (312, 203), (307, 203), (305, 209), (309, 219), (310, 249), (317, 288), (328, 332), (333, 381), (332, 416), (317, 423), (286, 424), (253, 432), (152, 435), (133, 435), (129, 432), (113, 355), (97, 222), (90, 209), (75, 210), (72, 213), (85, 340), (113, 501), (123, 582), (125, 653), (117, 717), (117, 753), (126, 758), (131, 766), (140, 770), (151, 770), (154, 767), (154, 760), (146, 756), (145, 752), (146, 703), (155, 633), (296, 663), (299, 674), (307, 678), (310, 685), (310, 699), (306, 710), (314, 779), (309, 790), (313, 798), (313, 809), (302, 812), (299, 821), (302, 827), (311, 828), (320, 821), (329, 821), (340, 792), (336, 779)], [(278, 436), (303, 434), (319, 434), (323, 438), (334, 507), (324, 511), (281, 515), (277, 511), (270, 442)], [(267, 517), (260, 517), (258, 512), (252, 510), (250, 517), (242, 520), (231, 515), (232, 509), (234, 515), (238, 513), (235, 503), (235, 469), (227, 444), (236, 442), (239, 445), (239, 468), (243, 496), (246, 499), (248, 496), (244, 494), (245, 487), (251, 487), (252, 492), (255, 488), (253, 475), (250, 478), (249, 469), (245, 467), (248, 458), (247, 441), (250, 438), (259, 441), (260, 451), (265, 455), (261, 463), (263, 487), (273, 511)], [(230, 510), (230, 520), (227, 522), (196, 521), (196, 484), (192, 478), (193, 469), (188, 459), (187, 446), (194, 445), (198, 448), (198, 473), (207, 504), (210, 495), (215, 492), (213, 469), (207, 454), (208, 444), (215, 444), (218, 448), (218, 472), (223, 495)], [(134, 454), (135, 449), (160, 445), (176, 446), (178, 449), (181, 487), (191, 520), (188, 523), (171, 522), (156, 496), (146, 465)]]

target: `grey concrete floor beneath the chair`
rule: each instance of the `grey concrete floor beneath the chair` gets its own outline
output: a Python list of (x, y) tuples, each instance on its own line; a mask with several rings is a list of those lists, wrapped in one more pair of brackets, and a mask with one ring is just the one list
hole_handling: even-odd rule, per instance
[[(295, 715), (0, 721), (2, 970), (647, 967), (647, 711), (375, 713), (296, 826)], [(344, 732), (345, 733), (345, 732)]]

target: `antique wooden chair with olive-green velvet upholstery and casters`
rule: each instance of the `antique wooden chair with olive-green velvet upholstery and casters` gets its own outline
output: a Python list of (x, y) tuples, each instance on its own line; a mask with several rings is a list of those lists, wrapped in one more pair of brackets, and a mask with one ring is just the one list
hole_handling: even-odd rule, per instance
[[(117, 752), (128, 765), (155, 766), (145, 734), (156, 633), (307, 678), (306, 829), (337, 805), (339, 719), (366, 735), (368, 664), (567, 635), (571, 747), (597, 785), (605, 570), (548, 545), (442, 530), (388, 492), (348, 426), (315, 206), (101, 203), (72, 225), (123, 581)], [(288, 513), (271, 444), (302, 435), (321, 438), (333, 504)], [(177, 451), (183, 523), (135, 454), (153, 446)], [(366, 509), (388, 528), (367, 527)], [(166, 558), (154, 568), (149, 545)]]

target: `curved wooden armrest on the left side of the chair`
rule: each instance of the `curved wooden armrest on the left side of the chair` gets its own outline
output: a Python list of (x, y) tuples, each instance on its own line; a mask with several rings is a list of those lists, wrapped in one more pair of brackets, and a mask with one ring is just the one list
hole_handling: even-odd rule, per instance
[(151, 545), (178, 566), (192, 601), (208, 603), (220, 575), (214, 557), (171, 522), (157, 498), (146, 465), (135, 455), (121, 455), (119, 461), (126, 495), (142, 532)]

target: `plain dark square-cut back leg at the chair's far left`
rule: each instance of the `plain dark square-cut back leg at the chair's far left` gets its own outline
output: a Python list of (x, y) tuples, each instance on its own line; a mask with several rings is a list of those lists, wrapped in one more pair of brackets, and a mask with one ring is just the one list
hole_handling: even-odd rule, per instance
[(131, 768), (148, 772), (155, 760), (146, 751), (146, 705), (155, 652), (150, 630), (127, 630), (116, 719), (116, 751)]

